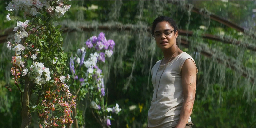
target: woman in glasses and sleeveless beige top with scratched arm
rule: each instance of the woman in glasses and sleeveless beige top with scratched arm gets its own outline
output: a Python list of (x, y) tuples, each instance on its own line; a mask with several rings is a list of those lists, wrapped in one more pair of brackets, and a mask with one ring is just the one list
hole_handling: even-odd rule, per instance
[(151, 70), (154, 94), (148, 110), (148, 127), (192, 128), (190, 114), (198, 72), (195, 61), (178, 48), (178, 31), (172, 18), (156, 18), (151, 34), (164, 57)]

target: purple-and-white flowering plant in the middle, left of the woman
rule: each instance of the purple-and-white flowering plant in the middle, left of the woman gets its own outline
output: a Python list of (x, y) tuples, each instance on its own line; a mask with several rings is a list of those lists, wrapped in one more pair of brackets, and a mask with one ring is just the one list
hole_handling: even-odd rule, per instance
[[(103, 126), (111, 125), (111, 114), (119, 114), (121, 108), (116, 104), (114, 107), (107, 107), (104, 98), (105, 85), (100, 64), (105, 63), (106, 57), (111, 57), (115, 42), (107, 40), (105, 34), (101, 32), (98, 37), (92, 36), (85, 46), (78, 49), (73, 57), (70, 57), (70, 73), (72, 88), (76, 90), (77, 99), (87, 98), (92, 108), (92, 114)], [(113, 106), (113, 105), (111, 105)], [(96, 114), (95, 114), (96, 113)]]

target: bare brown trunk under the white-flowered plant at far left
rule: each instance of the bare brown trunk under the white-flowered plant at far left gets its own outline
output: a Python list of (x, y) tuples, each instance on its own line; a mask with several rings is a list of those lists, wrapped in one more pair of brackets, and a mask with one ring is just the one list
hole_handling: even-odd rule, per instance
[(23, 101), (22, 101), (22, 122), (21, 122), (21, 128), (29, 128), (31, 123), (31, 114), (29, 112), (29, 78), (28, 76), (25, 76), (25, 87), (23, 92)]

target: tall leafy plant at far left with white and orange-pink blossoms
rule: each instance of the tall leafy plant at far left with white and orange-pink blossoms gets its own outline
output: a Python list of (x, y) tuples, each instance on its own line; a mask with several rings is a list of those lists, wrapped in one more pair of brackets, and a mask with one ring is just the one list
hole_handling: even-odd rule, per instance
[[(68, 71), (68, 57), (62, 48), (61, 26), (53, 23), (54, 17), (63, 16), (70, 7), (62, 0), (17, 0), (6, 7), (11, 13), (6, 16), (8, 21), (16, 20), (14, 10), (23, 11), (27, 19), (24, 22), (16, 20), (14, 42), (7, 42), (7, 48), (15, 52), (11, 74), (14, 86), (22, 95), (21, 127), (29, 127), (31, 112), (38, 113), (40, 128), (70, 127), (73, 123), (71, 109), (76, 108), (76, 96), (70, 93), (66, 84), (69, 74), (63, 76)], [(32, 96), (37, 100), (31, 100)]]

